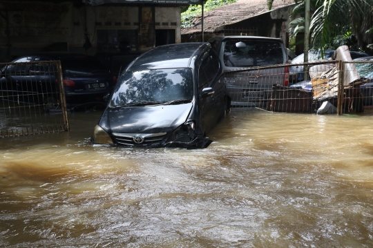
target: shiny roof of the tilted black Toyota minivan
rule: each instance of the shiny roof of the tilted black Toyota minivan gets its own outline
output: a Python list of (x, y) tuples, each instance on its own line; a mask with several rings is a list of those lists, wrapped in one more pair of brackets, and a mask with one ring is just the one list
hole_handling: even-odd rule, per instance
[(162, 68), (188, 68), (191, 59), (211, 47), (208, 43), (182, 43), (157, 46), (135, 59), (127, 70), (151, 70)]

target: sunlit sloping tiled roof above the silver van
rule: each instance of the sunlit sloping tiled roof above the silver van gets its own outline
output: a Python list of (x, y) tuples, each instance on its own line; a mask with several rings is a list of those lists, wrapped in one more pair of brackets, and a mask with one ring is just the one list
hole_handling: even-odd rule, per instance
[[(271, 10), (294, 4), (294, 0), (274, 0)], [(215, 32), (229, 25), (268, 12), (267, 0), (238, 0), (204, 13), (204, 32)], [(201, 32), (202, 16), (193, 19), (193, 27), (182, 28), (182, 35)]]

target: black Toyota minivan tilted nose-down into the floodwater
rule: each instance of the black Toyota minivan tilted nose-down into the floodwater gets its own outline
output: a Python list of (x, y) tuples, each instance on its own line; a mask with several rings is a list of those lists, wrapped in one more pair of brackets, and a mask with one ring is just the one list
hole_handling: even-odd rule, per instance
[(92, 141), (142, 147), (209, 146), (230, 107), (218, 55), (207, 43), (158, 46), (119, 76)]

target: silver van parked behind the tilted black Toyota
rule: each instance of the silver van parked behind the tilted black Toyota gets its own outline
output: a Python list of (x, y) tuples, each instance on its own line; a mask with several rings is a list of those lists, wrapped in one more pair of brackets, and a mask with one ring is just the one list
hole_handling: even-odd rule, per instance
[[(289, 68), (261, 68), (287, 64), (287, 53), (281, 39), (256, 36), (219, 36), (209, 39), (222, 61), (225, 83), (232, 106), (265, 106), (272, 86), (289, 85)], [(242, 70), (244, 68), (258, 70)]]

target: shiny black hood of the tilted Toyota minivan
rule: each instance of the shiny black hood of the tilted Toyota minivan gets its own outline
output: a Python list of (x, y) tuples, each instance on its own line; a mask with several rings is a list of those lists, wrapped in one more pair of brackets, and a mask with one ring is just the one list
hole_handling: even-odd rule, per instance
[(106, 108), (99, 126), (108, 133), (170, 133), (183, 124), (193, 103)]

